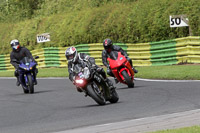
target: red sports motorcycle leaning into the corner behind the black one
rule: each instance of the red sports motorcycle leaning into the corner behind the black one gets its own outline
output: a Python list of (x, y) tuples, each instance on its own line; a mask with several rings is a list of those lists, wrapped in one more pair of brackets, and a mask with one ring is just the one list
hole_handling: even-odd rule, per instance
[(129, 88), (134, 87), (134, 71), (131, 64), (121, 52), (111, 51), (107, 58), (114, 76), (119, 82), (127, 84)]

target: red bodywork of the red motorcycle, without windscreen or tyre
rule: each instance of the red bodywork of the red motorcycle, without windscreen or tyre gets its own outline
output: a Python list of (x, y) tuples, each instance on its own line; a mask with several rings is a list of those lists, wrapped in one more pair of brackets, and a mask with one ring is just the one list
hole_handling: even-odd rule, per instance
[[(134, 71), (131, 67), (131, 64), (128, 62), (126, 57), (124, 57), (121, 52), (118, 52), (118, 57), (116, 60), (113, 60), (111, 58), (107, 59), (110, 64), (110, 68), (114, 74), (114, 76), (122, 83), (124, 82), (124, 77), (122, 75), (122, 71), (126, 71), (128, 75), (131, 77), (131, 79), (134, 79)], [(120, 68), (120, 69), (119, 69)], [(125, 83), (126, 84), (126, 83)]]

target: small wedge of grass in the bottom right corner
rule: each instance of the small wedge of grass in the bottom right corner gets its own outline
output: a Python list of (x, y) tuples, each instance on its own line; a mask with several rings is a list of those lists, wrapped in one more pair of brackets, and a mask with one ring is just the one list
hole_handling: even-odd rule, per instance
[(200, 133), (200, 126), (192, 126), (180, 129), (163, 130), (151, 133)]

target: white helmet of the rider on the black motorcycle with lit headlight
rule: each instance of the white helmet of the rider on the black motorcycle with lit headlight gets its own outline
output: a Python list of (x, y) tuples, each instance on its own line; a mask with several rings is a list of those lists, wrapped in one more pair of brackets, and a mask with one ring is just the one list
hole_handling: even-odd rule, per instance
[(76, 62), (78, 59), (78, 53), (75, 47), (69, 47), (65, 51), (65, 56), (68, 61)]

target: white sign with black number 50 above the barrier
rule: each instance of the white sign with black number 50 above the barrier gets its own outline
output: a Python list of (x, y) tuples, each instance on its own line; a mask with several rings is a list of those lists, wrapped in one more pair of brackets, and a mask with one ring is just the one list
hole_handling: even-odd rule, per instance
[(189, 20), (186, 15), (171, 15), (169, 16), (170, 27), (189, 26)]

